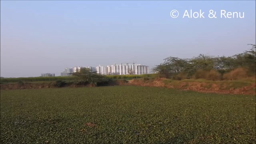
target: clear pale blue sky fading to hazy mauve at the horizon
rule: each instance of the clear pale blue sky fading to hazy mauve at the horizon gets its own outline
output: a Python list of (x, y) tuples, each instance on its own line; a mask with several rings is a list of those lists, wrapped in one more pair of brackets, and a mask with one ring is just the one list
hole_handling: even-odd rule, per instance
[[(169, 56), (232, 56), (256, 42), (255, 1), (2, 1), (0, 75), (60, 76), (64, 68)], [(178, 18), (170, 12), (178, 10)], [(185, 10), (205, 18), (182, 18)], [(209, 10), (217, 18), (208, 18)], [(220, 18), (220, 10), (244, 18)], [(196, 16), (196, 15), (195, 15)]]

